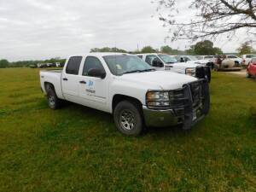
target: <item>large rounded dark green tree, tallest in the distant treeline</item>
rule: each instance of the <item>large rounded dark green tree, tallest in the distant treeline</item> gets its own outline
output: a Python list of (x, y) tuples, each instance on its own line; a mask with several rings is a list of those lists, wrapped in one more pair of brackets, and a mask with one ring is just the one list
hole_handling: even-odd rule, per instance
[(223, 53), (221, 49), (213, 47), (213, 43), (209, 40), (191, 45), (188, 52), (193, 55), (220, 55)]

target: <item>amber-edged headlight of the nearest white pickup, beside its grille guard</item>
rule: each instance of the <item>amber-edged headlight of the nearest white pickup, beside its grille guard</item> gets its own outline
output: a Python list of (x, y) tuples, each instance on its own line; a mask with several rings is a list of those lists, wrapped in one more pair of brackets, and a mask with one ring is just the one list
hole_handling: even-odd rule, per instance
[(167, 91), (148, 91), (146, 100), (148, 108), (170, 107), (169, 92)]

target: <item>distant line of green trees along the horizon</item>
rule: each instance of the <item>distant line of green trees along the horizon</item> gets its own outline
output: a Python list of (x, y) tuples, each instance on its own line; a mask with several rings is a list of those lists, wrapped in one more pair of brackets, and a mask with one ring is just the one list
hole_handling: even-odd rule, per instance
[[(238, 51), (238, 55), (244, 55), (244, 54), (251, 54), (255, 53), (256, 51), (253, 49), (251, 42), (245, 42), (244, 44), (241, 44), (241, 46), (236, 49)], [(223, 55), (222, 49), (218, 47), (214, 47), (213, 43), (209, 40), (204, 40), (201, 42), (198, 42), (196, 44), (193, 44), (189, 47), (189, 49), (185, 50), (179, 50), (179, 49), (172, 49), (169, 45), (165, 45), (160, 47), (160, 49), (154, 49), (152, 46), (145, 46), (143, 49), (135, 50), (135, 51), (128, 51), (125, 49), (119, 49), (119, 48), (93, 48), (90, 49), (90, 52), (118, 52), (118, 53), (130, 53), (130, 54), (140, 54), (140, 53), (165, 53), (169, 55)], [(6, 68), (6, 67), (36, 67), (38, 63), (56, 63), (60, 62), (61, 64), (64, 64), (66, 60), (61, 59), (59, 57), (52, 58), (49, 60), (44, 61), (14, 61), (9, 62), (5, 59), (0, 60), (0, 68)]]

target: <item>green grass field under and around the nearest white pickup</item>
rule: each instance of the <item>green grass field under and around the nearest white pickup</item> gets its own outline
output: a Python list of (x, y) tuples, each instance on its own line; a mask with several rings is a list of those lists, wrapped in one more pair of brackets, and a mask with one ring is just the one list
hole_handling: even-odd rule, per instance
[(38, 69), (1, 69), (0, 83), (1, 192), (256, 191), (252, 79), (213, 73), (206, 119), (142, 137), (121, 135), (108, 113), (50, 110)]

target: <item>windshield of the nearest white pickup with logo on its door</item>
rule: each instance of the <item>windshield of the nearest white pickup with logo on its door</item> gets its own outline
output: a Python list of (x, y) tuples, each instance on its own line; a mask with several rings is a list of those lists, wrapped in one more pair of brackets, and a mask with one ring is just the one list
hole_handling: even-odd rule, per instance
[(148, 63), (134, 55), (107, 55), (103, 56), (103, 59), (113, 75), (142, 73), (154, 70)]

